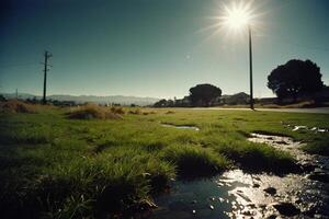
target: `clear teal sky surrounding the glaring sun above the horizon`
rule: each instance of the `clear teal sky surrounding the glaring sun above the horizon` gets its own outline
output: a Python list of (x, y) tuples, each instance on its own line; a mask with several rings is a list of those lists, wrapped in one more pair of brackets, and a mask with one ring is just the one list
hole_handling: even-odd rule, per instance
[[(200, 83), (249, 93), (248, 32), (211, 27), (234, 0), (2, 0), (0, 93), (183, 97)], [(239, 1), (238, 1), (239, 2)], [(243, 1), (250, 2), (250, 1)], [(254, 96), (290, 59), (329, 84), (329, 1), (254, 0)]]

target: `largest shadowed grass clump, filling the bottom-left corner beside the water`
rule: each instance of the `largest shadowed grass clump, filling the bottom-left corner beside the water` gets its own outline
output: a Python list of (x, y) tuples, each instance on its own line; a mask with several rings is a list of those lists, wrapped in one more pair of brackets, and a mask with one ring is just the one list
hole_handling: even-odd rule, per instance
[[(171, 177), (172, 164), (145, 151), (120, 148), (46, 168), (22, 185), (24, 188), (8, 185), (1, 210), (9, 210), (9, 217), (128, 217), (139, 209), (140, 200), (148, 200), (149, 194), (163, 188)], [(16, 193), (22, 189), (25, 192)]]

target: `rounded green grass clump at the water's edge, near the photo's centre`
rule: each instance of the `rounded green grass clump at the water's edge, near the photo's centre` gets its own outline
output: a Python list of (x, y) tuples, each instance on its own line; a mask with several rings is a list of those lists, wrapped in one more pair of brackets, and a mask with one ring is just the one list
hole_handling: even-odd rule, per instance
[(229, 161), (212, 149), (193, 145), (174, 145), (162, 151), (162, 158), (178, 166), (179, 174), (202, 176), (218, 173), (229, 166)]

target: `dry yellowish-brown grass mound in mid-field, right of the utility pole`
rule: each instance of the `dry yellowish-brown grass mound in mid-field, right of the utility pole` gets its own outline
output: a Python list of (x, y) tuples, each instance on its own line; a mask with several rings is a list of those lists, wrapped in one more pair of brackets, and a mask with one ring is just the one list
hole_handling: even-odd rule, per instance
[(122, 118), (120, 114), (122, 114), (122, 111), (117, 108), (112, 108), (109, 111), (107, 108), (98, 106), (95, 104), (87, 104), (84, 106), (78, 106), (78, 108), (75, 108), (72, 112), (68, 113), (68, 117), (78, 119), (117, 119)]

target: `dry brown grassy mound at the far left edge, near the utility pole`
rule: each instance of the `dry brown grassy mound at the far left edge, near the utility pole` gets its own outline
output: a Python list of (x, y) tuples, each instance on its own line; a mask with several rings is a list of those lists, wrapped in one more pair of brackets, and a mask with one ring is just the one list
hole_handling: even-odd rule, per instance
[(31, 104), (26, 104), (22, 101), (10, 100), (0, 103), (0, 112), (3, 113), (35, 113), (35, 108)]

